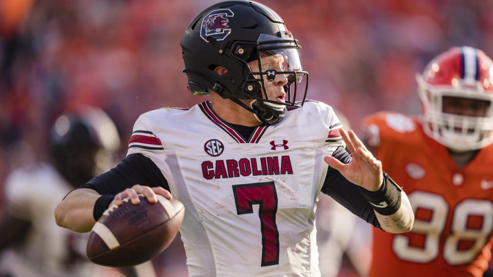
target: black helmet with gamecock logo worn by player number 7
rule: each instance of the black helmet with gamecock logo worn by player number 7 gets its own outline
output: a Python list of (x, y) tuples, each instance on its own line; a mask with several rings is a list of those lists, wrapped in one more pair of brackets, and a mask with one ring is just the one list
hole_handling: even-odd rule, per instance
[[(196, 95), (218, 93), (255, 114), (257, 120), (273, 125), (280, 122), (286, 106), (301, 107), (308, 90), (308, 72), (302, 71), (301, 46), (272, 9), (253, 1), (224, 1), (200, 12), (186, 27), (181, 38), (188, 87)], [(282, 71), (262, 68), (261, 57), (281, 54)], [(258, 61), (257, 72), (248, 62)], [(227, 68), (219, 75), (217, 66)], [(264, 82), (278, 74), (286, 102), (269, 100)], [(298, 88), (304, 90), (297, 93)], [(296, 102), (296, 96), (302, 95)], [(241, 99), (253, 99), (250, 106)]]

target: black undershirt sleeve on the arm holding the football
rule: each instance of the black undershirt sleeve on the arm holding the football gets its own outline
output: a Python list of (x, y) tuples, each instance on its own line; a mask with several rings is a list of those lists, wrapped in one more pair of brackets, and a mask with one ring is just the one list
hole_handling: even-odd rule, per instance
[(169, 190), (168, 182), (161, 170), (142, 154), (128, 155), (115, 168), (94, 177), (79, 188), (93, 189), (99, 194), (117, 194), (136, 184)]

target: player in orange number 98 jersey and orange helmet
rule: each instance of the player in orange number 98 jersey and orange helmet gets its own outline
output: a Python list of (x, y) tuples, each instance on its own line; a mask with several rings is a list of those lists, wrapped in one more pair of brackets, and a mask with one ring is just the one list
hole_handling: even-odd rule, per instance
[(391, 112), (365, 120), (368, 144), (415, 214), (409, 233), (374, 230), (371, 275), (479, 277), (493, 230), (493, 62), (453, 47), (417, 80), (421, 120)]

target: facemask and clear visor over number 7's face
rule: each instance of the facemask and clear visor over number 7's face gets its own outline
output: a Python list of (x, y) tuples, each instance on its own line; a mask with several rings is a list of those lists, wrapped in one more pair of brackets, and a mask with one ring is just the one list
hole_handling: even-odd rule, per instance
[[(248, 60), (248, 77), (238, 97), (253, 100), (250, 108), (259, 122), (276, 124), (282, 120), (286, 106), (301, 107), (305, 102), (308, 72), (302, 71), (299, 48), (295, 39), (259, 36)], [(298, 88), (304, 90), (299, 103), (296, 102)]]

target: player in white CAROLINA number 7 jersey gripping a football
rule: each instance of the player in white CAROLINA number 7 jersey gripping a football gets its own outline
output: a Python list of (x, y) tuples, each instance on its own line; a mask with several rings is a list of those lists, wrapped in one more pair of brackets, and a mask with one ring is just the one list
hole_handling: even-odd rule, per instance
[(330, 106), (305, 101), (300, 45), (276, 12), (217, 3), (186, 27), (181, 46), (188, 88), (211, 101), (142, 114), (126, 159), (56, 208), (60, 226), (90, 231), (123, 197), (173, 195), (185, 206), (191, 276), (320, 275), (320, 191), (377, 228), (410, 230), (407, 196), (380, 161)]

